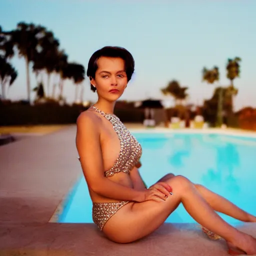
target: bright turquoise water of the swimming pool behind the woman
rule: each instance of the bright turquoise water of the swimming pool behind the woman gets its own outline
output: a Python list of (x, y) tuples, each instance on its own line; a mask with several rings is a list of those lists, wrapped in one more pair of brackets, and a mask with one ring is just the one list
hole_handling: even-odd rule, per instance
[[(168, 172), (181, 174), (256, 215), (256, 138), (217, 134), (133, 133), (142, 146), (139, 169), (149, 186)], [(64, 203), (59, 222), (92, 222), (84, 177)], [(219, 213), (231, 224), (240, 221)], [(195, 222), (182, 204), (166, 222)]]

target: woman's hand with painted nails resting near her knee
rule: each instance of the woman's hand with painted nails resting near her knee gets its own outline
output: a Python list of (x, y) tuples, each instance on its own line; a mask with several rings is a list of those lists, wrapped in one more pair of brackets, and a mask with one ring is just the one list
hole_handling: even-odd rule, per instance
[(154, 200), (157, 202), (165, 201), (171, 191), (172, 188), (167, 183), (157, 182), (143, 191), (143, 196), (141, 196), (139, 202), (148, 200)]

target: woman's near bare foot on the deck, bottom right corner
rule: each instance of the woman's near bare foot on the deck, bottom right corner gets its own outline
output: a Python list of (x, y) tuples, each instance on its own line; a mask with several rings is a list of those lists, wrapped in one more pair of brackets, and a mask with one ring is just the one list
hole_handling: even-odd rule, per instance
[(227, 246), (230, 255), (256, 255), (256, 239), (249, 234), (244, 234), (236, 243), (227, 241)]

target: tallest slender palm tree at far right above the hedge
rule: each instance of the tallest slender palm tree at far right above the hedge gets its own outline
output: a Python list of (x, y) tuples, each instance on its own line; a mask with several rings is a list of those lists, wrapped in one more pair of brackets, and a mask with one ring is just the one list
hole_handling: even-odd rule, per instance
[(229, 91), (231, 93), (231, 109), (233, 110), (233, 96), (237, 94), (238, 90), (234, 88), (233, 80), (236, 77), (239, 77), (240, 74), (240, 65), (239, 62), (241, 58), (235, 57), (233, 59), (228, 58), (226, 64), (226, 77), (230, 80)]

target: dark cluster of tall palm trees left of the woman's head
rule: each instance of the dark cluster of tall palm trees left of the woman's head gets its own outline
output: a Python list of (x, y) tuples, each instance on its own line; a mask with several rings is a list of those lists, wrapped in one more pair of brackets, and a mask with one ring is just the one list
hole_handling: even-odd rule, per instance
[[(81, 84), (85, 79), (85, 69), (80, 63), (69, 62), (68, 55), (60, 48), (60, 43), (52, 31), (41, 25), (19, 22), (15, 29), (3, 31), (0, 26), (0, 84), (1, 94), (4, 99), (6, 88), (10, 86), (17, 77), (17, 70), (9, 62), (18, 55), (24, 59), (26, 68), (27, 100), (31, 101), (31, 85), (29, 66), (35, 74), (37, 86), (34, 90), (37, 95), (55, 97), (56, 82), (50, 84), (50, 77), (57, 80), (59, 85), (58, 99), (63, 99), (63, 84), (65, 79), (71, 79), (75, 85)], [(42, 82), (43, 74), (47, 75), (47, 90)], [(55, 76), (55, 77), (54, 77)], [(50, 87), (52, 92), (50, 95)], [(77, 99), (77, 88), (75, 97)]]

